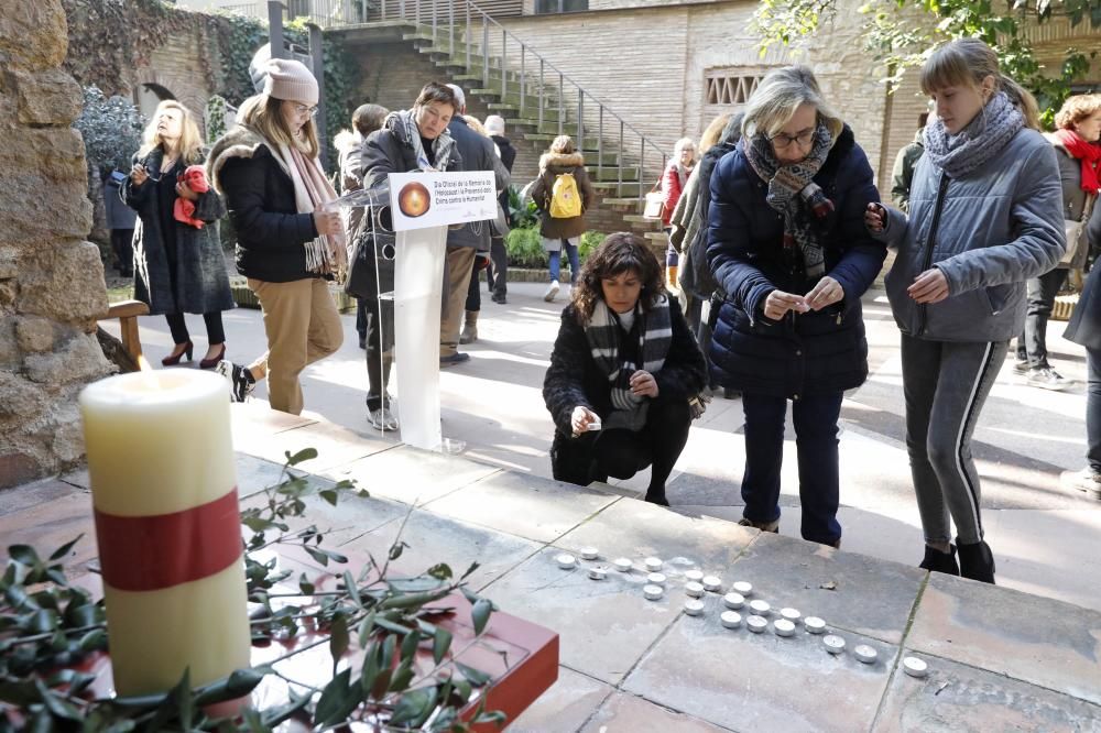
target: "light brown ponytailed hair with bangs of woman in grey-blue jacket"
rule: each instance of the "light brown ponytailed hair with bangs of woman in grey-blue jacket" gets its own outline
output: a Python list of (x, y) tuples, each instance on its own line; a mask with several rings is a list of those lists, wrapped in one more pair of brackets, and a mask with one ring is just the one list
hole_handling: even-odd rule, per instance
[(994, 77), (994, 91), (1004, 91), (1033, 130), (1040, 129), (1039, 105), (1020, 84), (999, 70), (998, 54), (979, 39), (956, 39), (933, 52), (922, 67), (922, 94), (948, 87), (979, 89), (988, 76)]

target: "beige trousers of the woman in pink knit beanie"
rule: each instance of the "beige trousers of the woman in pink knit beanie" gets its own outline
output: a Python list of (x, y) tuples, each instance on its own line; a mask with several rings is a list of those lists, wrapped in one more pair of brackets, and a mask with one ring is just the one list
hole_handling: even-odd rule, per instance
[(272, 409), (302, 414), (298, 374), (307, 365), (328, 357), (344, 342), (340, 314), (319, 277), (291, 283), (265, 283), (249, 278), (264, 315), (268, 352), (249, 366), (258, 380), (268, 376)]

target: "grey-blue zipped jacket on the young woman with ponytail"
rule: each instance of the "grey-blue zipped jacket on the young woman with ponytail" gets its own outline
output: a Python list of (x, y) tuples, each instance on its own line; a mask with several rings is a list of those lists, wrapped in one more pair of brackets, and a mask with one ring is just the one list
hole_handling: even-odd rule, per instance
[[(904, 333), (934, 341), (1017, 336), (1025, 281), (1051, 270), (1067, 247), (1056, 153), (1027, 128), (959, 178), (923, 155), (914, 169), (909, 216), (887, 211), (887, 226), (876, 237), (898, 248), (886, 277), (891, 309)], [(906, 288), (934, 266), (948, 281), (948, 297), (915, 303)]]

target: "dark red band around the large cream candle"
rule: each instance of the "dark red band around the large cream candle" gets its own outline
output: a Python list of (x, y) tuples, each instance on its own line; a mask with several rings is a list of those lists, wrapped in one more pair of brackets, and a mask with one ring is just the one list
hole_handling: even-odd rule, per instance
[(118, 516), (96, 510), (103, 580), (126, 591), (172, 588), (220, 572), (242, 553), (237, 486), (171, 514)]

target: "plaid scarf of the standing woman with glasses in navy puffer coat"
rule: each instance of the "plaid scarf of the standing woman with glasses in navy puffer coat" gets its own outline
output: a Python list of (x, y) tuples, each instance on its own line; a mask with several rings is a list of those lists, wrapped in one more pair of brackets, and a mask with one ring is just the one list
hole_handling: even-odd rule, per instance
[(810, 154), (798, 163), (784, 165), (776, 160), (772, 141), (764, 133), (742, 138), (741, 142), (750, 166), (762, 180), (768, 182), (765, 200), (784, 217), (785, 251), (798, 249), (804, 271), (813, 281), (826, 274), (826, 256), (811, 221), (824, 219), (833, 210), (833, 201), (826, 197), (814, 177), (829, 157), (833, 142), (829, 128), (819, 120)]

